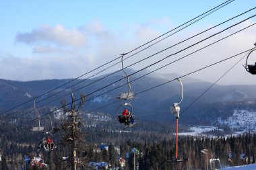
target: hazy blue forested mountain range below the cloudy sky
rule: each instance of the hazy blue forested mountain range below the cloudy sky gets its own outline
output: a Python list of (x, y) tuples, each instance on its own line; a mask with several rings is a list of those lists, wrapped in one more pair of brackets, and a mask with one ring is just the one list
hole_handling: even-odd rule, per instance
[[(135, 73), (132, 69), (128, 69), (127, 72), (129, 74)], [(133, 114), (139, 119), (168, 124), (174, 119), (169, 109), (172, 103), (180, 99), (181, 87), (179, 82), (175, 80), (160, 87), (146, 90), (175, 79), (179, 75), (158, 73), (146, 75), (147, 73), (149, 72), (143, 71), (129, 77), (132, 91), (137, 94), (131, 103)], [(143, 75), (146, 76), (143, 77)], [(109, 103), (117, 101), (116, 97), (122, 91), (127, 91), (127, 85), (117, 88), (126, 83), (125, 79), (118, 81), (123, 76), (124, 74), (119, 71), (113, 75), (101, 75), (92, 79), (75, 79), (73, 81), (72, 79), (53, 79), (23, 82), (0, 79), (0, 108), (1, 111), (5, 111), (22, 103), (25, 104), (15, 109), (33, 108), (33, 97), (35, 96), (40, 96), (36, 99), (37, 108), (42, 106), (59, 107), (61, 99), (69, 101), (70, 93), (74, 91), (77, 97), (80, 93), (87, 95), (88, 101), (84, 105), (84, 111), (89, 112), (100, 108), (97, 110), (98, 112), (115, 116), (117, 108), (124, 101), (112, 105)], [(253, 105), (247, 104), (248, 101), (255, 101), (256, 99), (254, 85), (214, 85), (198, 99), (212, 83), (190, 77), (184, 77), (182, 82), (184, 99), (181, 103), (181, 123), (198, 124), (200, 121), (200, 124), (209, 124), (209, 122), (214, 122), (218, 116), (223, 118), (230, 116), (234, 108), (254, 108)], [(142, 91), (145, 92), (141, 93)], [(104, 105), (108, 105), (108, 107), (103, 107)], [(225, 114), (223, 114), (223, 110), (226, 110)], [(183, 111), (185, 111), (184, 116)]]

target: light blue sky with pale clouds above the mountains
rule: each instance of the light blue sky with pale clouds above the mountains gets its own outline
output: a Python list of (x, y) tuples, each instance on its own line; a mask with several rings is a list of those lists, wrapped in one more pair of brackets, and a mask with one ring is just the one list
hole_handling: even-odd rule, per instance
[[(230, 22), (226, 20), (256, 7), (254, 0), (235, 0), (199, 21), (166, 34), (158, 43), (147, 44), (158, 36), (181, 26), (225, 1), (3, 1), (0, 0), (0, 79), (34, 81), (42, 79), (76, 78), (124, 56), (124, 66), (139, 70), (166, 56), (162, 62), (148, 67), (154, 71), (173, 62), (156, 73), (186, 75), (214, 62), (234, 56), (254, 47), (256, 26), (225, 38), (203, 50), (195, 52), (225, 36), (256, 22), (256, 9)], [(251, 19), (247, 19), (251, 17)], [(245, 22), (233, 26), (243, 19)], [(209, 32), (177, 44), (208, 28), (225, 22)], [(232, 26), (232, 28), (228, 28)], [(226, 29), (228, 28), (228, 29)], [(226, 29), (221, 34), (212, 36)], [(179, 32), (178, 32), (179, 30)], [(168, 36), (170, 35), (170, 36)], [(167, 37), (168, 36), (168, 37)], [(212, 36), (211, 38), (209, 38)], [(164, 38), (166, 37), (166, 38)], [(206, 40), (204, 40), (206, 39)], [(197, 43), (200, 42), (200, 43)], [(174, 46), (174, 44), (177, 44)], [(173, 46), (172, 48), (169, 48)], [(191, 46), (191, 48), (188, 48)], [(168, 50), (164, 50), (168, 48)], [(163, 52), (160, 52), (164, 50)], [(132, 52), (131, 52), (132, 51)], [(137, 52), (137, 54), (136, 54)], [(156, 54), (160, 52), (159, 54)], [(195, 52), (190, 54), (191, 52)], [(133, 55), (134, 54), (134, 55)], [(133, 64), (153, 55), (147, 60)], [(195, 79), (214, 82), (245, 56), (218, 83), (221, 85), (256, 83), (255, 76), (245, 71), (246, 54), (243, 53), (218, 65), (189, 75)], [(252, 52), (249, 62), (255, 62)], [(253, 58), (254, 55), (254, 58)], [(121, 61), (115, 60), (111, 64)], [(109, 67), (110, 65), (106, 65)], [(121, 63), (98, 72), (111, 73), (121, 69)], [(92, 73), (93, 74), (93, 73)], [(86, 74), (82, 79), (90, 77)]]

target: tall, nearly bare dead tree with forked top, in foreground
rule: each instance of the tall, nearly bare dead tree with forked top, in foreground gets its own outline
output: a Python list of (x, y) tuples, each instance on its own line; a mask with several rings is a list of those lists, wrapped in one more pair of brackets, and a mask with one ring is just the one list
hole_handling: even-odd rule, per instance
[(86, 96), (80, 95), (79, 104), (75, 104), (75, 95), (71, 93), (71, 103), (66, 104), (65, 99), (61, 101), (64, 119), (61, 123), (61, 145), (68, 147), (71, 156), (65, 159), (67, 166), (71, 170), (76, 170), (78, 165), (82, 165), (82, 160), (77, 157), (77, 151), (83, 151), (85, 146), (84, 133), (81, 131), (81, 118), (79, 110), (84, 104)]

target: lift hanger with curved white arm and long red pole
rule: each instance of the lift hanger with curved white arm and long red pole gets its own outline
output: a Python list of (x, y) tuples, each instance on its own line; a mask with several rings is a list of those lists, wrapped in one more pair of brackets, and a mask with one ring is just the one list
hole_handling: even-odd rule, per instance
[(179, 83), (181, 84), (181, 99), (178, 103), (173, 103), (172, 107), (170, 108), (170, 112), (172, 114), (174, 114), (174, 116), (176, 117), (176, 144), (175, 144), (175, 160), (173, 162), (184, 162), (184, 161), (188, 161), (188, 159), (178, 159), (178, 120), (179, 120), (179, 111), (181, 110), (181, 108), (179, 107), (179, 104), (181, 103), (181, 101), (183, 101), (183, 83), (181, 82), (181, 79), (177, 79), (179, 81)]

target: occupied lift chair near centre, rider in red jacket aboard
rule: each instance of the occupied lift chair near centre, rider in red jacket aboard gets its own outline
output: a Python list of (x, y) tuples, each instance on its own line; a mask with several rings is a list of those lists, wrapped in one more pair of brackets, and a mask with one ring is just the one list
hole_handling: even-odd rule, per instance
[[(127, 111), (127, 116), (124, 116), (123, 113), (119, 113), (119, 110), (121, 108), (124, 108), (124, 107), (126, 108), (125, 110)], [(127, 110), (128, 108), (130, 108), (129, 111)], [(121, 124), (124, 123), (125, 124), (125, 128), (131, 128), (131, 127), (133, 127), (136, 124), (134, 122), (134, 118), (133, 118), (133, 114), (132, 113), (133, 113), (133, 106), (130, 103), (124, 103), (122, 105), (119, 105), (119, 107), (117, 108), (117, 120)]]

